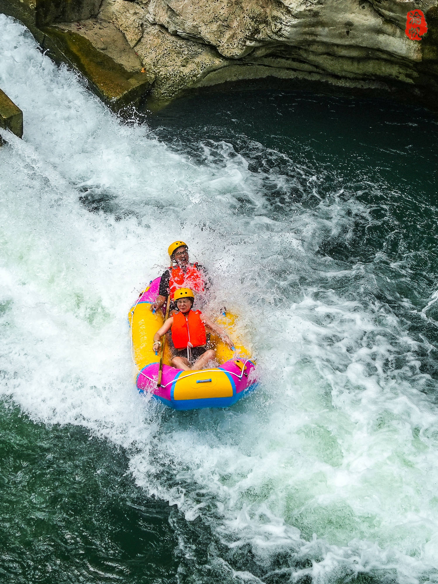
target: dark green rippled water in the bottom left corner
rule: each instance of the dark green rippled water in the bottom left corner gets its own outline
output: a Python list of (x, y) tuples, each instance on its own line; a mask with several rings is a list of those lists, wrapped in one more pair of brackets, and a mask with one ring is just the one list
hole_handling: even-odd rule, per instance
[(0, 432), (5, 582), (175, 582), (171, 511), (135, 488), (123, 452), (7, 403)]

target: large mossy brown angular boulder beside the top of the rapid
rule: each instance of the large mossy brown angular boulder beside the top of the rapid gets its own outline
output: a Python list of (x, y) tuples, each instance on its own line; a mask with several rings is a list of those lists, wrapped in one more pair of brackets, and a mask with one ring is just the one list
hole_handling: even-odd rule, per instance
[(151, 86), (126, 37), (98, 18), (101, 0), (0, 0), (0, 11), (25, 24), (57, 62), (81, 72), (114, 110), (137, 101)]

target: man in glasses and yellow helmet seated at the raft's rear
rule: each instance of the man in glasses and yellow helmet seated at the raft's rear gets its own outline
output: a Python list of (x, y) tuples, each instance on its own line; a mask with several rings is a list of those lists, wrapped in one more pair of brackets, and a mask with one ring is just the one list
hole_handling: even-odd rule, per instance
[[(183, 241), (174, 241), (169, 245), (168, 253), (171, 258), (171, 267), (169, 267), (161, 276), (159, 282), (158, 298), (151, 305), (151, 310), (165, 308), (169, 292), (171, 300), (178, 288), (186, 287), (194, 290), (201, 297), (208, 291), (211, 286), (210, 276), (207, 270), (199, 263), (189, 262), (189, 248)], [(171, 310), (175, 306), (171, 305)]]

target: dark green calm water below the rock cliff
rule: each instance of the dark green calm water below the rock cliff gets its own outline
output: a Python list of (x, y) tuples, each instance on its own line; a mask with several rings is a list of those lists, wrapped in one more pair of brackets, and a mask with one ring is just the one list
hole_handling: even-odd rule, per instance
[[(352, 221), (329, 234), (318, 255), (369, 270), (364, 297), (387, 304), (412, 333), (438, 340), (438, 307), (427, 319), (412, 310), (426, 306), (438, 277), (436, 114), (384, 100), (263, 89), (177, 100), (149, 123), (198, 163), (211, 155), (200, 143), (230, 145), (263, 176), (272, 218), (297, 200), (315, 213), (322, 200), (345, 203)], [(343, 281), (338, 289), (346, 288)], [(422, 370), (435, 377), (436, 349), (427, 352)]]

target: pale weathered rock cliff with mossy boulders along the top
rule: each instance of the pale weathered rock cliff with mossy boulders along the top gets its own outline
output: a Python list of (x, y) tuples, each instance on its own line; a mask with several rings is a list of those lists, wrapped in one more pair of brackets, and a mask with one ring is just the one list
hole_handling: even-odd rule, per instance
[[(0, 9), (44, 34), (38, 39), (44, 46), (64, 55), (117, 104), (147, 94), (159, 105), (195, 88), (273, 76), (388, 91), (436, 107), (437, 4), (0, 0)], [(414, 9), (423, 11), (429, 27), (421, 40), (405, 34), (406, 14)], [(106, 70), (112, 79), (105, 83)], [(112, 92), (116, 86), (119, 93)]]

